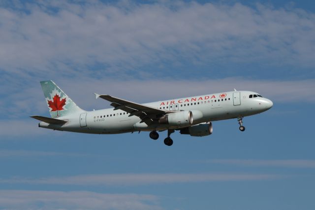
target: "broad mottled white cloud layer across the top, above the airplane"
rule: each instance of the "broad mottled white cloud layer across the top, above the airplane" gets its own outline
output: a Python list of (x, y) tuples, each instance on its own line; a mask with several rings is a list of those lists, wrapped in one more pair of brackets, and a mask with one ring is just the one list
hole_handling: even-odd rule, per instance
[(62, 0), (25, 8), (0, 8), (1, 70), (23, 77), (95, 74), (87, 68), (98, 64), (102, 70), (134, 70), (183, 59), (315, 66), (315, 15), (302, 9)]

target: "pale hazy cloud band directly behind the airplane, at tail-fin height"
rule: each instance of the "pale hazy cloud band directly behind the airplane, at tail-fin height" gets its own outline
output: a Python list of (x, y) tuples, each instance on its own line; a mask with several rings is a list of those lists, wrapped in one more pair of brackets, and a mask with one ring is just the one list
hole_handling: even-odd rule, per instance
[[(283, 102), (315, 102), (315, 80), (279, 81), (279, 80), (252, 80), (245, 78), (224, 78), (208, 80), (114, 80), (114, 79), (61, 79), (55, 81), (77, 105), (86, 110), (110, 107), (109, 103), (98, 99), (95, 101), (93, 93), (110, 94), (137, 103), (153, 102), (185, 96), (220, 93), (223, 91), (252, 90), (260, 93), (275, 103)], [(189, 88), (184, 88), (189, 87)], [(84, 100), (82, 100), (84, 96)], [(3, 109), (0, 113), (10, 118), (25, 118), (30, 115), (49, 115), (41, 87), (32, 84), (15, 93), (3, 97)], [(28, 123), (29, 122), (29, 123)], [(32, 124), (32, 122), (34, 122)], [(34, 130), (36, 120), (27, 121), (0, 121), (0, 129), (5, 132), (14, 127), (10, 123), (21, 124), (20, 129), (28, 132)], [(28, 123), (27, 125), (25, 125)], [(32, 126), (32, 128), (30, 128)], [(38, 129), (37, 129), (38, 130)], [(39, 129), (40, 130), (40, 129)]]

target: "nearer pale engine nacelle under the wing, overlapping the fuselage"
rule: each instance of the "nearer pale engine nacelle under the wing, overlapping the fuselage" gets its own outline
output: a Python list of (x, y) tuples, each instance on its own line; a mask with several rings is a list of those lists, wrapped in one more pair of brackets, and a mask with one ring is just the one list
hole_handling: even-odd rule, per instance
[(160, 124), (169, 124), (172, 126), (188, 126), (193, 121), (191, 111), (179, 111), (162, 116), (158, 122)]

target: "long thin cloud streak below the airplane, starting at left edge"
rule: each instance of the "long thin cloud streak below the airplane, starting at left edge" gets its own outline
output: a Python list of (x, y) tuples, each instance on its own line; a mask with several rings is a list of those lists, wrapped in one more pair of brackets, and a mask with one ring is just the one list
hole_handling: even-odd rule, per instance
[(28, 179), (0, 179), (0, 183), (60, 184), (60, 185), (148, 185), (209, 181), (255, 181), (282, 178), (271, 174), (101, 174)]

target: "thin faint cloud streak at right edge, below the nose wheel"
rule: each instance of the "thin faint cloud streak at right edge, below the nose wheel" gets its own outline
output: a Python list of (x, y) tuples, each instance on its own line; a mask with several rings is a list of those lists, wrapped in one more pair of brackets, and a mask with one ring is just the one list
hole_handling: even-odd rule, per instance
[(287, 168), (315, 168), (315, 160), (291, 159), (291, 160), (242, 160), (242, 159), (218, 159), (207, 160), (206, 163), (228, 164), (253, 167), (287, 167)]

